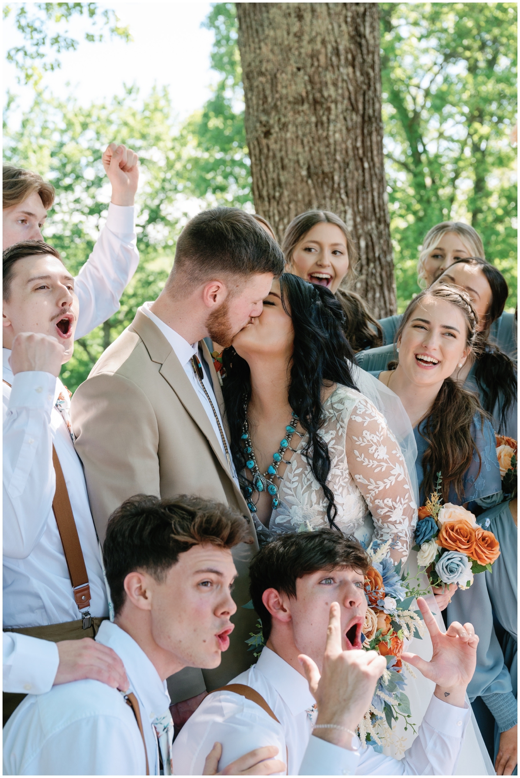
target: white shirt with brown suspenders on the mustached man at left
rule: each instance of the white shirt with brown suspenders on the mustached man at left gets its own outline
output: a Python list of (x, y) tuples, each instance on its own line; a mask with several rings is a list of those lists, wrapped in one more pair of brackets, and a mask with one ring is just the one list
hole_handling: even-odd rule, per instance
[(61, 413), (58, 394), (69, 398), (50, 373), (12, 375), (3, 349), (3, 625), (33, 627), (81, 618), (72, 594), (58, 525), (52, 511), (58, 454), (89, 576), (90, 614), (108, 615), (107, 593), (83, 466)]

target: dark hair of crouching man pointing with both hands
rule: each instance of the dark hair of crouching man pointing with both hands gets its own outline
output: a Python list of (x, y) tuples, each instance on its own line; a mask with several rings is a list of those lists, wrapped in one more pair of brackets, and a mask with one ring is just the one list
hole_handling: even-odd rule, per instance
[(366, 573), (367, 552), (353, 535), (332, 529), (279, 535), (260, 549), (251, 562), (249, 592), (255, 611), (262, 619), (264, 641), (271, 633), (271, 614), (262, 602), (266, 589), (296, 598), (296, 582), (318, 570), (353, 568)]

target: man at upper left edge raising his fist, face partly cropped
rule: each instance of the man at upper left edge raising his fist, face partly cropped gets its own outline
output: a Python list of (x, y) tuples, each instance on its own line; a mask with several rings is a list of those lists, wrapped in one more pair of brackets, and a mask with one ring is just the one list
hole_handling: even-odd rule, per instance
[[(111, 202), (92, 254), (75, 279), (79, 300), (76, 340), (119, 309), (121, 294), (139, 265), (134, 207), (138, 156), (125, 145), (111, 143), (102, 162), (111, 183)], [(2, 251), (25, 240), (44, 240), (41, 230), (54, 202), (54, 187), (30, 170), (4, 166), (2, 198)]]

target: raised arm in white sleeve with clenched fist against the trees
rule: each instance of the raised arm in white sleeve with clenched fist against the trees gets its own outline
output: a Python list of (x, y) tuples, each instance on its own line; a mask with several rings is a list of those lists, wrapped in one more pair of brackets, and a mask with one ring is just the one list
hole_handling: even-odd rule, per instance
[(111, 143), (102, 159), (112, 185), (111, 203), (107, 223), (76, 278), (79, 299), (76, 340), (119, 309), (121, 294), (139, 265), (134, 208), (139, 181), (138, 156), (124, 145)]

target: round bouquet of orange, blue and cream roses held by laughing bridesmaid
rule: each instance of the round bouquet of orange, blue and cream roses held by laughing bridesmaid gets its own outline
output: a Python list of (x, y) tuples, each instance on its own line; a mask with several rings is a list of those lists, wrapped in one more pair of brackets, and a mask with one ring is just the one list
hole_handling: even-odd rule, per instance
[(441, 473), (437, 473), (437, 489), (419, 509), (415, 531), (417, 564), (425, 568), (434, 587), (459, 584), (467, 589), (473, 575), (491, 571), (500, 555), (500, 546), (493, 532), (480, 527), (473, 513), (460, 505), (441, 504), (439, 495)]

